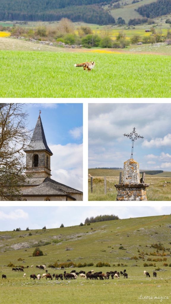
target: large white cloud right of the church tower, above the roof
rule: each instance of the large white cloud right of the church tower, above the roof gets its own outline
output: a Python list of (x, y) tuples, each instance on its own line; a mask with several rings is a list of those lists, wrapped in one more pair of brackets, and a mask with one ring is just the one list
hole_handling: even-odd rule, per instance
[(82, 191), (82, 144), (49, 145), (53, 151), (51, 174), (55, 181)]

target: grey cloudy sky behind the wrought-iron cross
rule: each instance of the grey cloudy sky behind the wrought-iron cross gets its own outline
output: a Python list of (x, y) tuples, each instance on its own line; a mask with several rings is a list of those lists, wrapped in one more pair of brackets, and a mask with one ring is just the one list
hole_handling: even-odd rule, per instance
[(123, 134), (133, 128), (143, 139), (134, 142), (133, 158), (141, 170), (171, 171), (171, 104), (89, 104), (89, 168), (123, 168), (132, 142)]

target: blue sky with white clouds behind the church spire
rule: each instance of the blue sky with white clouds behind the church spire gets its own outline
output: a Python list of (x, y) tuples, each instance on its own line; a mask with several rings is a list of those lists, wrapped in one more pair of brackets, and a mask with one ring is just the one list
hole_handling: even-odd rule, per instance
[(52, 151), (51, 178), (82, 191), (82, 103), (26, 103), (28, 128), (41, 110), (47, 145)]

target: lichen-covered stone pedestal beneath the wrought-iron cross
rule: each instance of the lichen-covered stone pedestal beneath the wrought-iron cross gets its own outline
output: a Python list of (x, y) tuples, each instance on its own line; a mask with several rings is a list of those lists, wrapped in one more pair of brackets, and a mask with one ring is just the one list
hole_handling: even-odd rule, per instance
[(140, 182), (139, 164), (134, 159), (124, 162), (123, 180), (115, 185), (117, 201), (147, 201), (146, 187), (149, 184)]

